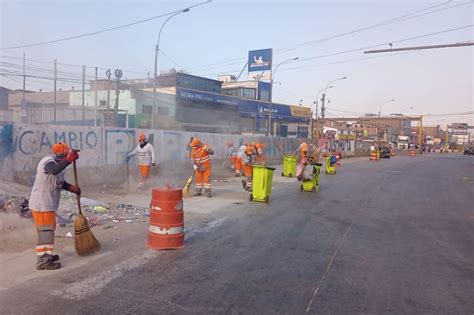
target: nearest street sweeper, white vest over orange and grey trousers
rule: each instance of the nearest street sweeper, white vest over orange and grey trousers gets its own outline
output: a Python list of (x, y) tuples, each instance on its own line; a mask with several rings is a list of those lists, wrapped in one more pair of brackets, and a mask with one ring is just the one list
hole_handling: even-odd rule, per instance
[(61, 190), (80, 195), (81, 190), (64, 180), (64, 169), (79, 158), (78, 151), (69, 150), (65, 143), (51, 147), (52, 155), (40, 160), (29, 199), (38, 242), (36, 245), (36, 269), (59, 269), (59, 255), (53, 255), (54, 231), (56, 230), (56, 211), (59, 207)]

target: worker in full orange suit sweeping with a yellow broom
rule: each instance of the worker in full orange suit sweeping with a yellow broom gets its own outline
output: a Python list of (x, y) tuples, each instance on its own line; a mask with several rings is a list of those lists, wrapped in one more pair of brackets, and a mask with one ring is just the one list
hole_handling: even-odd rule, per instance
[(196, 172), (196, 191), (194, 195), (201, 196), (202, 186), (204, 186), (206, 196), (211, 198), (211, 155), (214, 154), (214, 151), (198, 138), (194, 138), (190, 146), (192, 147), (191, 162)]

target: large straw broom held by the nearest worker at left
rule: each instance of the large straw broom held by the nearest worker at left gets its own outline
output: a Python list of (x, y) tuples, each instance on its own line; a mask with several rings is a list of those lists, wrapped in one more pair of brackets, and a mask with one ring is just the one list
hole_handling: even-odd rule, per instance
[[(76, 161), (72, 163), (74, 169), (74, 182), (76, 187), (79, 187)], [(94, 234), (92, 234), (89, 224), (87, 223), (87, 218), (82, 214), (81, 196), (79, 195), (77, 195), (77, 209), (79, 214), (77, 215), (76, 221), (74, 221), (74, 247), (79, 256), (85, 256), (99, 250), (100, 244)]]

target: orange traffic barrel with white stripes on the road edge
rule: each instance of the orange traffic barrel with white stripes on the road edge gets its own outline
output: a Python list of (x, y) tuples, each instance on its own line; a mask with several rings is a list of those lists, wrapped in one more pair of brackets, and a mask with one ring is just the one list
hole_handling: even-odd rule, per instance
[(184, 248), (182, 189), (153, 189), (148, 226), (148, 246), (152, 249)]

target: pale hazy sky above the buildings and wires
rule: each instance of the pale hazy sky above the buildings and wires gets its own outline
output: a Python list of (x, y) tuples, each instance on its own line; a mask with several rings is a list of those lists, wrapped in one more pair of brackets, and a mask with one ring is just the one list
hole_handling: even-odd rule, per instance
[[(3, 1), (0, 0), (0, 48), (49, 41), (118, 26), (185, 8), (201, 1)], [(443, 4), (444, 3), (444, 4)], [(443, 4), (418, 14), (460, 5), (424, 16), (318, 41), (341, 33), (404, 16)], [(126, 78), (146, 78), (153, 70), (154, 46), (165, 18), (128, 28), (50, 45), (0, 50), (0, 73), (17, 70), (23, 51), (27, 59), (60, 64), (120, 68)], [(473, 110), (472, 47), (447, 48), (389, 54), (364, 55), (367, 46), (382, 45), (430, 33), (469, 26), (457, 31), (412, 39), (393, 47), (447, 44), (474, 38), (473, 1), (227, 1), (193, 8), (174, 17), (165, 26), (160, 47), (159, 69), (174, 67), (191, 74), (217, 78), (238, 74), (248, 50), (273, 48), (274, 101), (310, 106), (316, 93), (329, 81), (347, 76), (328, 90), (328, 116), (377, 113), (444, 114)], [(313, 41), (313, 42), (311, 42)], [(298, 44), (297, 47), (292, 47)], [(282, 48), (292, 47), (290, 50)], [(359, 49), (361, 48), (361, 49)], [(349, 53), (339, 52), (355, 50)], [(332, 56), (325, 56), (332, 55)], [(361, 58), (373, 58), (355, 60)], [(240, 58), (240, 59), (239, 59)], [(312, 58), (306, 60), (308, 58)], [(217, 64), (219, 63), (219, 64)], [(210, 66), (207, 66), (210, 65)], [(207, 67), (205, 67), (207, 66)], [(27, 72), (52, 77), (50, 63), (28, 62)], [(60, 65), (63, 77), (78, 80), (80, 67)], [(93, 69), (88, 68), (88, 75)], [(104, 76), (105, 70), (99, 70)], [(244, 72), (243, 75), (246, 75)], [(61, 75), (60, 75), (61, 76)], [(21, 77), (0, 75), (0, 85), (21, 88)], [(51, 80), (27, 81), (52, 90)], [(73, 82), (61, 82), (68, 88)], [(409, 109), (414, 107), (414, 109)], [(469, 122), (473, 115), (431, 116), (427, 123)]]

